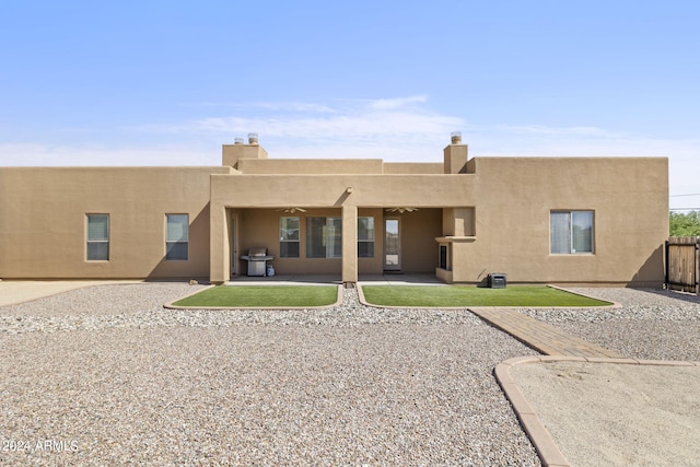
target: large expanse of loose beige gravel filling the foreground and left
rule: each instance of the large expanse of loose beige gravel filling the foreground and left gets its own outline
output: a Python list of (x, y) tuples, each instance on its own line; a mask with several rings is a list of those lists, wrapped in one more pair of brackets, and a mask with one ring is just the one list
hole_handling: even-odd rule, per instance
[(171, 311), (179, 283), (0, 307), (0, 464), (539, 465), (466, 311)]

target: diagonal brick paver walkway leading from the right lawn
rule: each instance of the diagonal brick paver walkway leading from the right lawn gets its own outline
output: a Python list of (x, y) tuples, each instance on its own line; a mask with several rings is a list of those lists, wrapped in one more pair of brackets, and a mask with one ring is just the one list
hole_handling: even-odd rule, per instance
[(585, 341), (513, 308), (476, 307), (469, 310), (546, 355), (622, 358), (612, 350)]

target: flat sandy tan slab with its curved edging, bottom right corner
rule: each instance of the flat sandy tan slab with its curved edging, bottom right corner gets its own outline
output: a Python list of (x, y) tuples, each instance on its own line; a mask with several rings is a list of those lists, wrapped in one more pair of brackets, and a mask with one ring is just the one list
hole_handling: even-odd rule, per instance
[(528, 357), (494, 374), (546, 466), (700, 458), (698, 363)]

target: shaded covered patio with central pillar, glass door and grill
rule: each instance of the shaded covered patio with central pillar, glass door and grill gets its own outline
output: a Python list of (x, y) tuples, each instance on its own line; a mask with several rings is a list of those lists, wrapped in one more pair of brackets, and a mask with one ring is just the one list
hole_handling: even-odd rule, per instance
[[(270, 266), (278, 278), (316, 275), (357, 282), (385, 272), (434, 277), (443, 209), (228, 207), (225, 221), (222, 241), (230, 268), (225, 279), (248, 275), (253, 280), (265, 279)], [(265, 271), (248, 269), (248, 253), (254, 248), (270, 258)]]

